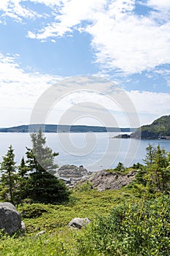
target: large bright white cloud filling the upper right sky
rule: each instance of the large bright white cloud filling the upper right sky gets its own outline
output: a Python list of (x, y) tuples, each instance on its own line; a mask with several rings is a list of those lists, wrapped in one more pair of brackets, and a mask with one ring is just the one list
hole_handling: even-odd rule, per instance
[(28, 37), (47, 39), (72, 34), (74, 29), (86, 31), (92, 36), (91, 46), (102, 69), (127, 74), (170, 63), (170, 20), (163, 20), (163, 15), (167, 18), (168, 0), (145, 2), (153, 8), (145, 16), (136, 15), (134, 0), (61, 3), (55, 20), (36, 34), (29, 31)]

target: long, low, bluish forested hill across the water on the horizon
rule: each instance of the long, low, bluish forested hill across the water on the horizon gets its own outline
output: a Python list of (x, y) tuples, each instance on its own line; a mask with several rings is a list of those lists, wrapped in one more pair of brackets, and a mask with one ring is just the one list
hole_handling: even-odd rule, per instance
[(18, 127), (0, 128), (0, 132), (134, 132), (135, 128), (93, 127), (86, 125), (30, 124)]

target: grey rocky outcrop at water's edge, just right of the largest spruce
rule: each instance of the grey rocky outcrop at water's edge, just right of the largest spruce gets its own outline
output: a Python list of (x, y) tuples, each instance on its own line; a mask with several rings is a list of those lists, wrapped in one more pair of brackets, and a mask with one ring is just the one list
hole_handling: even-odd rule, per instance
[(69, 185), (80, 181), (89, 174), (90, 172), (88, 172), (82, 165), (80, 165), (80, 167), (77, 167), (76, 165), (63, 165), (57, 171), (57, 177), (61, 178)]

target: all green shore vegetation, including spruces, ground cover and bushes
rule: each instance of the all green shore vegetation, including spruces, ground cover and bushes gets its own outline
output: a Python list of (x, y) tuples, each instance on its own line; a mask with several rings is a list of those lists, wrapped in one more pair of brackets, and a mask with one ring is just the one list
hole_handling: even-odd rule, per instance
[[(39, 161), (36, 162), (39, 159), (36, 154), (43, 151), (44, 157), (42, 154), (40, 157), (49, 170), (55, 167), (55, 154), (45, 147), (45, 138), (41, 131), (34, 134), (32, 140), (33, 148), (28, 149), (26, 162), (21, 160), (17, 174), (11, 146), (3, 159), (3, 165), (1, 164), (9, 189), (4, 193), (4, 181), (1, 178), (1, 198), (3, 193), (4, 200), (20, 198), (18, 211), (25, 222), (26, 232), (22, 236), (8, 236), (1, 232), (0, 255), (169, 256), (170, 153), (160, 146), (149, 145), (146, 148), (144, 165), (137, 163), (127, 168), (119, 162), (114, 170), (109, 170), (117, 175), (135, 171), (136, 176), (127, 187), (117, 191), (98, 192), (86, 181), (77, 187), (77, 190), (72, 189), (72, 194), (67, 189), (64, 190), (68, 193), (68, 200), (53, 199), (51, 203), (51, 195), (43, 194), (50, 194), (50, 190), (47, 190), (47, 184), (50, 182), (46, 183), (45, 168), (39, 165)], [(47, 163), (48, 154), (50, 162)], [(8, 158), (10, 161), (7, 161)], [(6, 162), (11, 166), (12, 183), (9, 182), (9, 169), (4, 165)], [(35, 176), (32, 179), (32, 173), (39, 173), (38, 178)], [(41, 187), (43, 198), (45, 197), (43, 203), (42, 197), (35, 197), (39, 195), (39, 187), (36, 187), (39, 177), (40, 186), (45, 184), (45, 187)], [(28, 184), (31, 193), (26, 197), (24, 191), (28, 191)], [(12, 187), (12, 197), (9, 185)], [(50, 184), (50, 187), (53, 193), (53, 184)], [(60, 195), (60, 192), (64, 195), (62, 189), (56, 190), (56, 195)], [(88, 217), (91, 220), (90, 225), (82, 230), (71, 229), (68, 223), (74, 217)], [(41, 230), (45, 230), (45, 233), (36, 237)]]

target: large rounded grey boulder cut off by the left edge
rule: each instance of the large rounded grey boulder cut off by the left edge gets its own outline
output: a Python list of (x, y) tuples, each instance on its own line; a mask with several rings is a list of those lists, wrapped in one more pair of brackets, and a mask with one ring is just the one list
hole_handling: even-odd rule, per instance
[(0, 203), (0, 229), (12, 235), (22, 227), (23, 222), (15, 206), (12, 203)]

